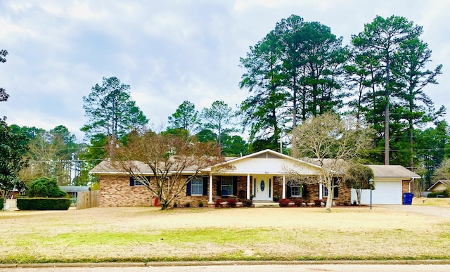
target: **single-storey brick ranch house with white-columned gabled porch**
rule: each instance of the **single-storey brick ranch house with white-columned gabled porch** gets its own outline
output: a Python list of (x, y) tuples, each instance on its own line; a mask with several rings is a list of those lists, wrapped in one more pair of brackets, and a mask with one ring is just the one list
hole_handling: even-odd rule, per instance
[[(143, 175), (148, 176), (151, 184), (151, 169), (140, 162), (134, 163)], [(223, 167), (224, 164), (227, 167)], [(375, 174), (376, 189), (373, 192), (378, 192), (376, 203), (379, 204), (401, 204), (402, 193), (410, 191), (409, 183), (420, 178), (401, 166), (369, 167)], [(197, 205), (200, 201), (212, 204), (214, 200), (231, 196), (237, 196), (240, 200), (252, 198), (254, 202), (273, 202), (276, 198), (291, 197), (302, 197), (308, 203), (316, 199), (325, 201), (328, 196), (325, 186), (298, 182), (303, 178), (319, 181), (320, 170), (316, 164), (273, 150), (262, 150), (243, 157), (227, 158), (224, 163), (202, 169), (198, 179), (188, 183), (185, 193), (179, 195), (176, 202), (181, 205), (186, 202)], [(301, 177), (296, 182), (290, 181), (293, 171)], [(90, 173), (99, 176), (101, 207), (149, 206), (155, 202), (154, 196), (145, 186), (108, 160), (98, 164)], [(335, 183), (338, 188), (334, 190), (334, 202), (337, 205), (350, 205), (352, 190), (338, 179)], [(365, 199), (363, 197), (364, 193), (361, 200)]]

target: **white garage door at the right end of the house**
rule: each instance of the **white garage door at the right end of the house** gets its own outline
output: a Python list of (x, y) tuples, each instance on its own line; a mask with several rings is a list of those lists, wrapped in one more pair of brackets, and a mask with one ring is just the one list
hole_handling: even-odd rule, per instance
[[(372, 190), (372, 204), (401, 204), (401, 181), (378, 181)], [(352, 189), (352, 202), (356, 200), (356, 191)], [(363, 190), (361, 204), (371, 203), (371, 190)]]

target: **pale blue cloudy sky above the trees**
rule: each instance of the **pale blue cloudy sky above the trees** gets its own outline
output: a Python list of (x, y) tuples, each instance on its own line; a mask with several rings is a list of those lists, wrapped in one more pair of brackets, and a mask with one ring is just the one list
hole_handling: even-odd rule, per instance
[[(83, 96), (103, 77), (131, 86), (131, 98), (165, 129), (183, 101), (196, 110), (223, 100), (237, 109), (239, 58), (290, 15), (331, 28), (343, 44), (376, 15), (423, 27), (430, 68), (443, 65), (425, 92), (450, 109), (450, 1), (446, 0), (1, 0), (0, 103), (8, 124), (46, 130), (64, 125), (83, 141)], [(446, 119), (450, 119), (450, 113)]]

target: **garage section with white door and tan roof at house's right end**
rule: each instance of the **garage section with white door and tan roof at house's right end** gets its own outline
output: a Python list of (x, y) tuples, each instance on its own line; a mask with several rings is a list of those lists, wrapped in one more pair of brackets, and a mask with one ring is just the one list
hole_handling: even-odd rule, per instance
[[(375, 190), (372, 190), (372, 204), (402, 204), (403, 193), (411, 193), (411, 182), (420, 176), (401, 165), (367, 165), (373, 170)], [(352, 202), (356, 191), (352, 189)], [(363, 190), (361, 204), (370, 204), (371, 190)]]

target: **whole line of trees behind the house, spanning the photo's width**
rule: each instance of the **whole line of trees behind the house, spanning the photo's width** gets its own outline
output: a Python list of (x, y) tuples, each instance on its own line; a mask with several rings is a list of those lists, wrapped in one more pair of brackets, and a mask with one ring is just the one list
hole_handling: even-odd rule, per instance
[[(248, 97), (238, 110), (214, 101), (198, 111), (184, 101), (168, 117), (169, 126), (156, 132), (190, 141), (195, 136), (200, 143), (216, 141), (222, 155), (279, 150), (280, 141), (286, 153), (293, 129), (309, 117), (352, 114), (359, 125), (373, 128), (373, 149), (363, 162), (401, 164), (430, 181), (448, 155), (449, 129), (443, 118), (446, 109), (435, 108), (426, 94), (428, 86), (437, 84), (442, 65), (431, 64), (432, 52), (421, 34), (422, 27), (406, 18), (377, 16), (352, 36), (351, 44), (343, 45), (330, 27), (291, 15), (240, 58), (245, 73), (239, 86)], [(77, 144), (64, 126), (44, 131), (12, 125), (11, 133), (26, 136), (24, 153), (32, 162), (21, 172), (28, 175), (23, 179), (49, 174), (60, 177), (62, 184), (94, 182), (89, 169), (114, 157), (115, 148), (130, 135), (150, 131), (130, 89), (117, 77), (103, 78), (83, 97), (89, 118), (82, 127), (86, 144)], [(248, 141), (239, 136), (242, 132)]]

